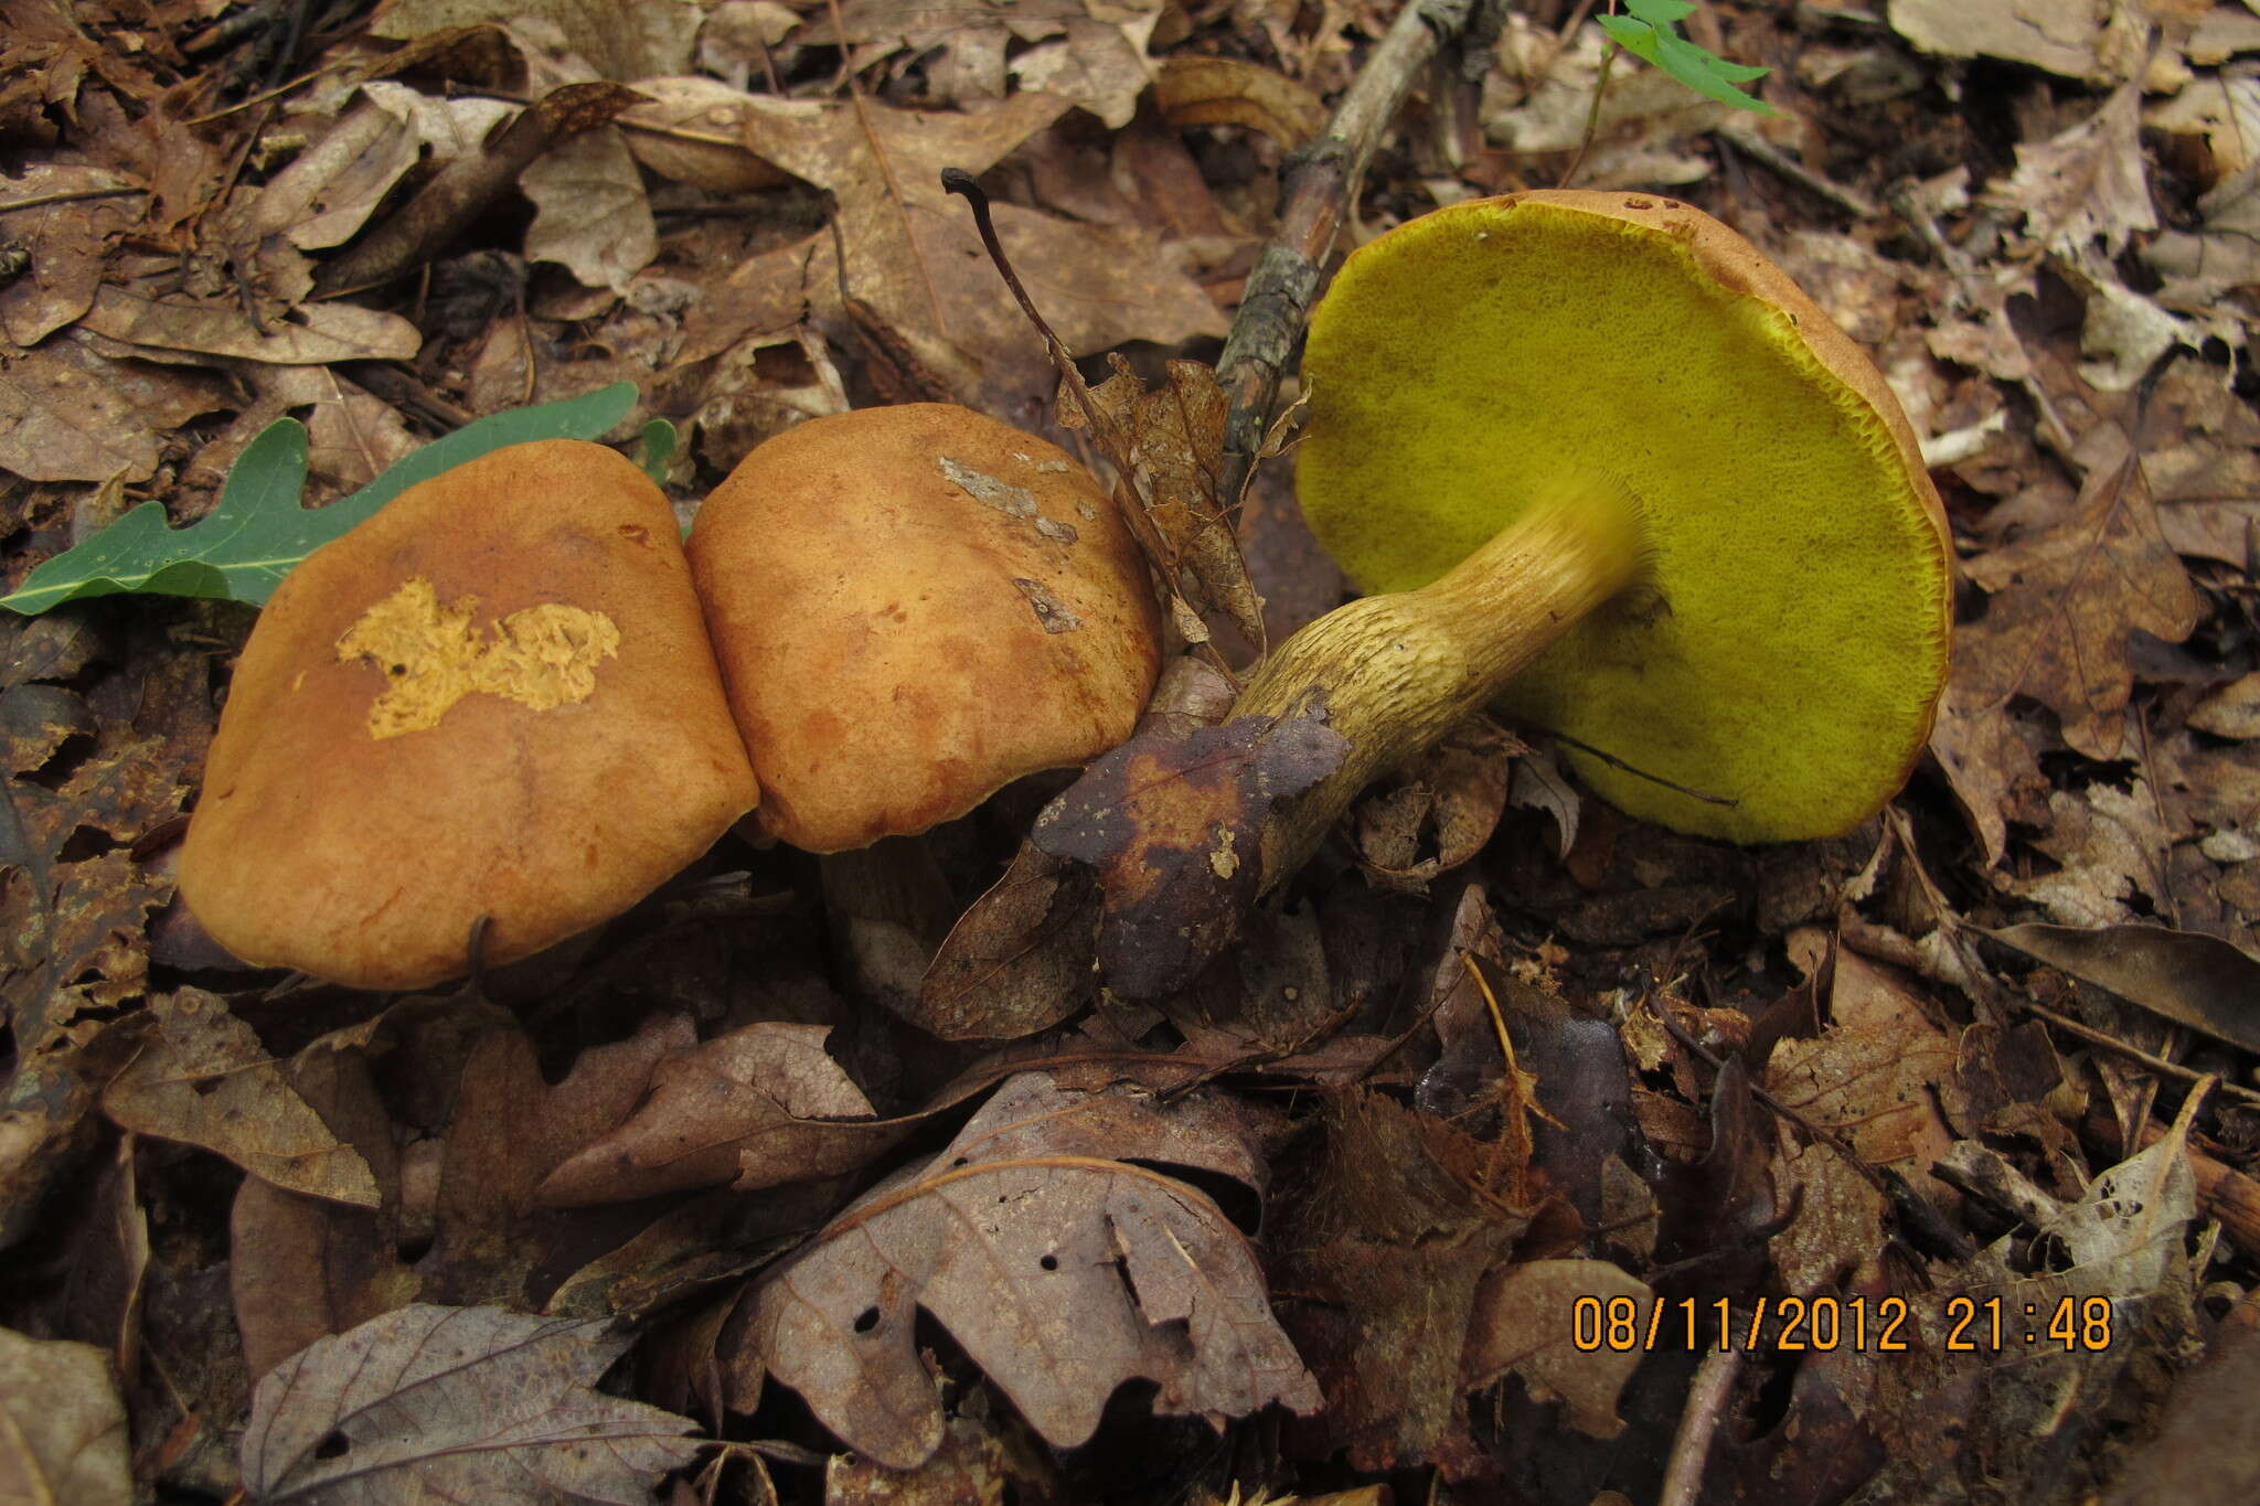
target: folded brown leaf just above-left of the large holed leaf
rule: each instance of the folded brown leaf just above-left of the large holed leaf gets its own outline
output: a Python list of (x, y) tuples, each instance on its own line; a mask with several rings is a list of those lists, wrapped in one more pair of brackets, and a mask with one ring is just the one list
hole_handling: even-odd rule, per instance
[(662, 1057), (635, 1115), (549, 1172), (533, 1199), (624, 1203), (732, 1179), (753, 1192), (868, 1163), (899, 1131), (825, 1052), (829, 1034), (757, 1021)]

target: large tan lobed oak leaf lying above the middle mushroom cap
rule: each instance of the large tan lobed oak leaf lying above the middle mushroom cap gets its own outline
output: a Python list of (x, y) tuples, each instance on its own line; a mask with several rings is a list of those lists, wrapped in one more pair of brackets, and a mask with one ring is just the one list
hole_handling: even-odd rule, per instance
[[(1044, 348), (981, 251), (972, 217), (942, 192), (940, 172), (981, 174), (1067, 108), (1053, 95), (1015, 95), (965, 115), (875, 102), (789, 104), (753, 115), (744, 140), (755, 156), (832, 192), (847, 296), (868, 305), (960, 402), (1026, 424), (1053, 393)], [(1146, 230), (997, 205), (997, 233), (1076, 354), (1128, 339), (1175, 343), (1225, 332), (1216, 303), (1171, 266)], [(825, 318), (843, 318), (829, 230), (755, 257), (730, 282), (768, 287), (780, 278)], [(723, 294), (721, 307), (730, 303)], [(694, 316), (683, 359), (714, 354), (741, 334), (741, 325)]]

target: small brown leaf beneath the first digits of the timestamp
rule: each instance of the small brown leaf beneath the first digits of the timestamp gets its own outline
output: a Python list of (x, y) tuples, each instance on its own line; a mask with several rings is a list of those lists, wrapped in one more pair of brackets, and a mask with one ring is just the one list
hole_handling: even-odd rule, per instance
[[(1476, 1292), (1462, 1384), (1471, 1391), (1514, 1373), (1535, 1402), (1564, 1402), (1568, 1425), (1593, 1438), (1616, 1438), (1625, 1420), (1616, 1398), (1641, 1364), (1638, 1346), (1580, 1341), (1580, 1307), (1600, 1314), (1618, 1298), (1634, 1312), (1657, 1301), (1645, 1280), (1607, 1260), (1528, 1260), (1492, 1271)], [(1591, 1330), (1589, 1330), (1591, 1332)]]

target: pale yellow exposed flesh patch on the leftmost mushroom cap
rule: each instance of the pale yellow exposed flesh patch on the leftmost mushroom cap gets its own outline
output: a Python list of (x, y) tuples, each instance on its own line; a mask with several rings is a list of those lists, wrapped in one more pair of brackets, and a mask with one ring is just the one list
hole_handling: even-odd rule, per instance
[(619, 653), (619, 628), (603, 612), (542, 603), (495, 623), (495, 641), (472, 628), (479, 598), (441, 605), (416, 578), (368, 607), (337, 639), (337, 662), (373, 659), (391, 677), (368, 707), (368, 736), (438, 727), (466, 695), (504, 695), (533, 711), (588, 700), (597, 664)]

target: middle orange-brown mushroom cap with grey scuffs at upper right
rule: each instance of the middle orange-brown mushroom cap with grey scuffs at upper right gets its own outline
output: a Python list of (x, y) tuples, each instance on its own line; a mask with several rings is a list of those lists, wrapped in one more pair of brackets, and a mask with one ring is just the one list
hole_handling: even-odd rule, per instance
[(1055, 445), (972, 409), (818, 418), (689, 542), (759, 826), (807, 851), (963, 815), (1130, 736), (1162, 659), (1144, 555)]

